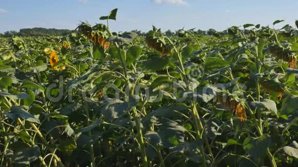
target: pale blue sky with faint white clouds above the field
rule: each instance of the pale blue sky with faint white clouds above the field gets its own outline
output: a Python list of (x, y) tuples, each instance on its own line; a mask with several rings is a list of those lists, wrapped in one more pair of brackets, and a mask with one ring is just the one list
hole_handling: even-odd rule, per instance
[(294, 26), (298, 19), (298, 0), (0, 0), (0, 32), (45, 27), (75, 29), (80, 21), (101, 23), (100, 16), (118, 8), (112, 31), (138, 29), (152, 25), (177, 30), (198, 28), (225, 30), (247, 23), (270, 25), (276, 19)]

